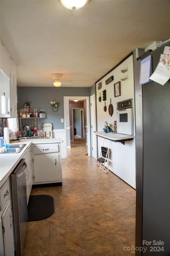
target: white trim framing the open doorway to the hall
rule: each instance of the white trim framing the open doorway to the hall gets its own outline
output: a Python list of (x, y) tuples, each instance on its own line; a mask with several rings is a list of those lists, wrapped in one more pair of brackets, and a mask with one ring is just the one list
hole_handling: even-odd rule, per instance
[[(91, 131), (90, 131), (90, 102), (89, 96), (63, 96), (64, 99), (64, 129), (65, 129), (65, 147), (66, 147), (66, 158), (67, 158), (67, 125), (66, 125), (66, 99), (85, 99), (86, 100), (86, 126), (87, 126), (87, 145), (88, 145), (88, 156), (91, 157)], [(69, 104), (69, 102), (67, 103)]]

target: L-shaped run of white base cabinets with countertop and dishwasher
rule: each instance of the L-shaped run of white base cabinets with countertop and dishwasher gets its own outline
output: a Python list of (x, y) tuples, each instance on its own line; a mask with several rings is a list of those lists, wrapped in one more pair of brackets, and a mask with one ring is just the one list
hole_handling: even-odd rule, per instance
[[(12, 143), (22, 146), (19, 153), (0, 154), (0, 255), (22, 255), (32, 185), (62, 185), (61, 142), (60, 138), (23, 139)], [(23, 220), (25, 225), (20, 225)]]

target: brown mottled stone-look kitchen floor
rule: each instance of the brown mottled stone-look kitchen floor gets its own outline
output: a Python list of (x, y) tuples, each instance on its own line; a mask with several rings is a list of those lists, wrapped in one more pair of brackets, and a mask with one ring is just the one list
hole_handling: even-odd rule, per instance
[(23, 256), (129, 256), (135, 245), (135, 190), (72, 146), (62, 159), (63, 186), (33, 188), (54, 197), (55, 213), (28, 222)]

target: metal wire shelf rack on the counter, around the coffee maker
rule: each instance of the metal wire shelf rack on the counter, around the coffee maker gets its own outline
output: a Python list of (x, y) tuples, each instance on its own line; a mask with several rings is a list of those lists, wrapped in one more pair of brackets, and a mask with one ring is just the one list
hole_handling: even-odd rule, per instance
[[(41, 126), (39, 124), (39, 118), (40, 117), (20, 117), (20, 139), (43, 139), (44, 134), (43, 130), (41, 130)], [(24, 137), (22, 134), (22, 126), (30, 126), (31, 129), (34, 129), (34, 127), (37, 127), (37, 131), (40, 131), (40, 135), (37, 136), (31, 136), (31, 137)]]

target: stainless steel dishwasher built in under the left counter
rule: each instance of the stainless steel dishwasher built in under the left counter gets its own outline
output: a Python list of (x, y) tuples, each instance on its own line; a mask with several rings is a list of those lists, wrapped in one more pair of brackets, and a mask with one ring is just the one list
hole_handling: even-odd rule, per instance
[(11, 174), (16, 256), (22, 255), (28, 223), (26, 171), (27, 163), (25, 159), (21, 159)]

